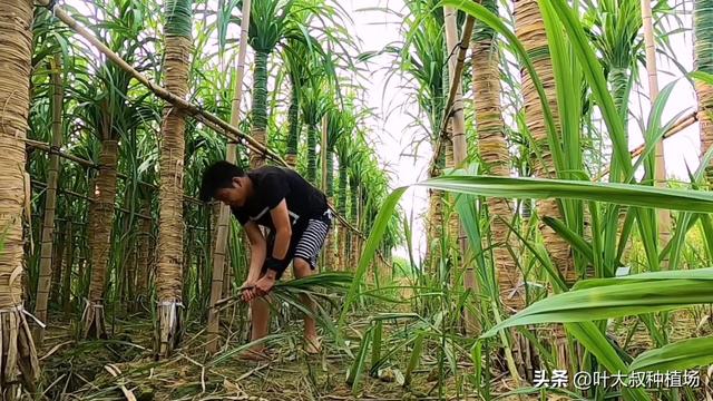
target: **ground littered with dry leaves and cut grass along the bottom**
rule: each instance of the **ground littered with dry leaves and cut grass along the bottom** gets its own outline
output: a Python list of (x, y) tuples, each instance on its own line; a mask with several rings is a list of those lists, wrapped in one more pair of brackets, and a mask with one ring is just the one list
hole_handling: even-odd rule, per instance
[[(675, 327), (670, 333), (672, 341), (710, 334), (706, 315), (690, 312), (672, 314), (670, 319), (675, 323), (667, 325)], [(625, 320), (612, 327), (619, 344), (626, 343), (634, 323), (633, 319)], [(429, 359), (428, 353), (414, 371), (410, 387), (401, 385), (393, 374), (375, 379), (364, 373), (360, 376), (356, 390), (352, 391), (345, 384), (345, 378), (353, 359), (329, 342), (324, 344), (322, 355), (305, 355), (296, 344), (296, 329), (292, 336), (272, 345), (274, 359), (270, 363), (245, 362), (229, 351), (224, 351), (219, 360), (208, 358), (203, 345), (205, 333), (198, 324), (187, 327), (183, 348), (174, 358), (156, 361), (152, 351), (153, 325), (148, 317), (117, 320), (115, 329), (110, 340), (76, 341), (74, 326), (55, 319), (48, 329), (45, 346), (38, 350), (43, 371), (40, 390), (46, 399), (477, 400), (467, 395), (472, 393), (467, 376), (472, 366), (467, 361), (461, 361), (459, 375), (447, 376), (439, 394), (438, 364)], [(626, 350), (633, 355), (652, 348), (643, 325), (627, 344)], [(240, 341), (234, 340), (232, 345), (238, 346)], [(353, 352), (356, 351), (354, 345)], [(402, 360), (399, 364), (402, 370), (406, 369), (408, 356), (404, 353), (398, 358)], [(492, 398), (515, 388), (502, 374), (494, 374), (491, 384)], [(528, 395), (519, 400), (539, 399)], [(569, 399), (547, 394), (547, 400)], [(518, 398), (506, 397), (501, 400)]]

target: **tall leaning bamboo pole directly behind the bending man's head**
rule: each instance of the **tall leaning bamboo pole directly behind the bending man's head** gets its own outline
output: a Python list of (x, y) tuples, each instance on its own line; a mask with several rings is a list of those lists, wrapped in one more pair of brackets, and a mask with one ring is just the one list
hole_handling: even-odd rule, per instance
[[(247, 30), (250, 27), (250, 13), (252, 1), (243, 1), (242, 22), (241, 22), (241, 39), (237, 55), (237, 61), (235, 65), (235, 87), (233, 90), (233, 101), (231, 110), (231, 125), (235, 126), (240, 123), (241, 101), (243, 98), (243, 78), (245, 76), (245, 56), (247, 53)], [(237, 149), (235, 144), (227, 145), (227, 160), (235, 163), (237, 159)], [(208, 326), (207, 326), (207, 351), (209, 353), (216, 353), (218, 351), (219, 342), (219, 311), (215, 307), (223, 295), (223, 281), (225, 270), (225, 254), (227, 248), (227, 235), (228, 235), (228, 222), (231, 209), (228, 206), (221, 204), (218, 212), (217, 235), (215, 242), (215, 250), (213, 253), (213, 280), (211, 282), (211, 309), (208, 310)], [(228, 295), (228, 294), (225, 294)]]

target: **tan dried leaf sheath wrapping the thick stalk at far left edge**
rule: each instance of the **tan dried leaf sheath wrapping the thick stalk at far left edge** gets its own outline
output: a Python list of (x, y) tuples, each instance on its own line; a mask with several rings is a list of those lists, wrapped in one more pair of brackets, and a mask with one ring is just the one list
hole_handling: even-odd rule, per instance
[(17, 399), (18, 383), (33, 390), (37, 351), (22, 310), (22, 213), (26, 180), (25, 137), (28, 130), (32, 56), (32, 2), (8, 0), (0, 7), (0, 392)]

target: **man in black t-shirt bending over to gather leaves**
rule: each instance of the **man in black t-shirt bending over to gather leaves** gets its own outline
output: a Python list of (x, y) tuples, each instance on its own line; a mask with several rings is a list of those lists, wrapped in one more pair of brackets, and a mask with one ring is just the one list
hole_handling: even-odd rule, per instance
[[(297, 278), (312, 274), (316, 257), (332, 225), (326, 196), (294, 170), (264, 166), (250, 172), (227, 162), (211, 165), (203, 174), (201, 199), (215, 198), (229, 206), (243, 225), (251, 244), (247, 280), (243, 300), (252, 309), (252, 341), (270, 330), (268, 294), (292, 262)], [(258, 226), (270, 233), (263, 236)], [(312, 311), (309, 300), (302, 300)], [(307, 353), (320, 352), (314, 319), (304, 316)], [(254, 346), (245, 358), (264, 359), (263, 345)]]

